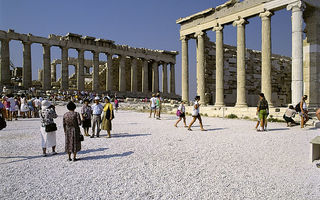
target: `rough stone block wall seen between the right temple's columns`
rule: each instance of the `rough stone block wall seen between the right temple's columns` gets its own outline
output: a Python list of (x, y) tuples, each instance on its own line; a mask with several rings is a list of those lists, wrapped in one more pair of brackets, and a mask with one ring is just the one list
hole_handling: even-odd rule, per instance
[[(215, 43), (205, 39), (206, 101), (213, 105), (216, 87)], [(272, 101), (275, 106), (291, 102), (291, 58), (272, 55)], [(261, 51), (247, 49), (246, 91), (248, 106), (256, 106), (261, 92)], [(237, 98), (237, 48), (224, 45), (224, 99), (234, 106)]]

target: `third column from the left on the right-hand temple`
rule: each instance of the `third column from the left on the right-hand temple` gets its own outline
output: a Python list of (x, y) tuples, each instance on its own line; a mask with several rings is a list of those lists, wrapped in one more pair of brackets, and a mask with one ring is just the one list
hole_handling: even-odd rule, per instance
[(216, 31), (216, 107), (224, 104), (224, 49), (223, 49), (223, 26), (218, 25), (213, 29)]

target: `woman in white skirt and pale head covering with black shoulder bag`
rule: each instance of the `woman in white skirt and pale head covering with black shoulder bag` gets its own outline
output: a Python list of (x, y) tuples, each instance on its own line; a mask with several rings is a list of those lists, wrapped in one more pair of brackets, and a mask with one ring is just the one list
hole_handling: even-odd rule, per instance
[(47, 100), (42, 101), (42, 109), (40, 112), (41, 116), (41, 141), (43, 156), (47, 156), (47, 148), (52, 147), (52, 154), (56, 153), (56, 130), (57, 126), (53, 119), (57, 118), (58, 115), (55, 111), (54, 106)]

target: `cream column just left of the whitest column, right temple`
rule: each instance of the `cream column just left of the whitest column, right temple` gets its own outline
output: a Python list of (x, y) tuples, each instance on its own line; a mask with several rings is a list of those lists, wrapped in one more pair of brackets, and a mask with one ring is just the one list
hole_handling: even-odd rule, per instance
[(262, 44), (261, 44), (261, 91), (264, 93), (270, 107), (272, 104), (272, 85), (271, 85), (271, 16), (270, 11), (260, 13), (262, 20)]

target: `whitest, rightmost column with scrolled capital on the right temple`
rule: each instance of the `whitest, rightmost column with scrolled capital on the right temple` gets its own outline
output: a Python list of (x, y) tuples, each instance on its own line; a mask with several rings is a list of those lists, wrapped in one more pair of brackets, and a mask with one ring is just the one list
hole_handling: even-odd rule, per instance
[(292, 10), (292, 104), (296, 105), (303, 96), (303, 10), (302, 1), (288, 5)]

